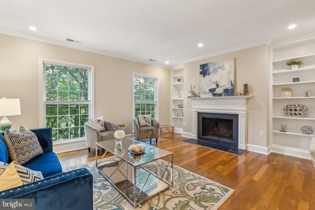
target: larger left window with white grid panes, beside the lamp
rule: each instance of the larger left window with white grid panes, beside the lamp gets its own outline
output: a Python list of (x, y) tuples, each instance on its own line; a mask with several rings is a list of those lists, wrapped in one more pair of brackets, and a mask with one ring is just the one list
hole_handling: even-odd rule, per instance
[(53, 141), (82, 139), (84, 122), (92, 113), (93, 66), (43, 61), (44, 121)]

